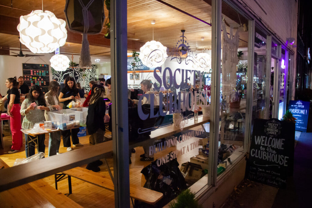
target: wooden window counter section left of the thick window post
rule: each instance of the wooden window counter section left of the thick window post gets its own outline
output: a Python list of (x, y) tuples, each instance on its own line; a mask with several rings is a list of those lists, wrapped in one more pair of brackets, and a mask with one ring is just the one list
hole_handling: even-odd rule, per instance
[(0, 170), (0, 191), (51, 176), (112, 155), (112, 141), (87, 146)]

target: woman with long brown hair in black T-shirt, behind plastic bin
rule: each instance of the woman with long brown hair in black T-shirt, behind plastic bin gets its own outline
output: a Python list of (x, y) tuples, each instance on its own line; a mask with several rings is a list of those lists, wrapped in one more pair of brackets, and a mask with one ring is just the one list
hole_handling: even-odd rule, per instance
[[(73, 100), (80, 99), (78, 89), (76, 87), (76, 81), (71, 76), (68, 76), (65, 80), (64, 88), (61, 89), (61, 93), (59, 95), (60, 102), (64, 103), (63, 109), (68, 109), (66, 106)], [(71, 130), (62, 131), (63, 135), (63, 144), (64, 147), (67, 148), (67, 151), (71, 151), (71, 141), (73, 146), (83, 146), (79, 142), (79, 138), (77, 136), (79, 132), (79, 128), (72, 128)], [(70, 140), (71, 139), (71, 140)]]

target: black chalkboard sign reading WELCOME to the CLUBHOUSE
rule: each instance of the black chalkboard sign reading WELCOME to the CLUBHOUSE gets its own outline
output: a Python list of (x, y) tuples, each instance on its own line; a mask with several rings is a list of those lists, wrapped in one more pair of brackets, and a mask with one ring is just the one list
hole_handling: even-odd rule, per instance
[(255, 119), (245, 177), (270, 186), (286, 188), (292, 175), (295, 123)]

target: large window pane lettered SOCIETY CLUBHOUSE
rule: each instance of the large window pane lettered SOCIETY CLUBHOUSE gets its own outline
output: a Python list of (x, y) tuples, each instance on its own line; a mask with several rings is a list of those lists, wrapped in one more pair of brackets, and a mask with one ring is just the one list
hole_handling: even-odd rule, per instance
[(207, 185), (211, 18), (201, 0), (128, 1), (130, 184), (158, 207)]

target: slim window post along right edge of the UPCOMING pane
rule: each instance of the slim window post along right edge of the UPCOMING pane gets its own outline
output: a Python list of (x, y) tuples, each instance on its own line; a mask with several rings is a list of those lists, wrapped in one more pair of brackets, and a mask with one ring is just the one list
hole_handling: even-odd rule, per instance
[(270, 113), (270, 90), (271, 90), (271, 50), (272, 50), (272, 36), (266, 36), (267, 37), (267, 46), (266, 46), (266, 77), (267, 77), (267, 83), (266, 83), (266, 118), (269, 119), (269, 113)]

